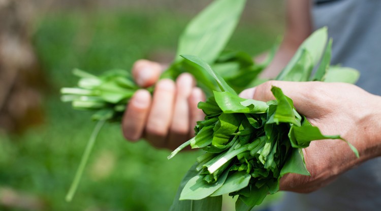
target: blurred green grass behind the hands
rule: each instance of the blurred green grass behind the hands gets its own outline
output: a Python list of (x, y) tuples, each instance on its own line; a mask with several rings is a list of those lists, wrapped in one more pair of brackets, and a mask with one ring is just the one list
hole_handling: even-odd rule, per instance
[[(200, 152), (168, 161), (166, 149), (143, 140), (125, 141), (117, 123), (103, 128), (73, 202), (65, 201), (95, 123), (89, 113), (61, 103), (58, 91), (75, 84), (74, 68), (97, 74), (130, 69), (139, 58), (173, 54), (189, 18), (165, 11), (66, 11), (41, 17), (34, 44), (50, 84), (43, 104), (45, 123), (22, 135), (0, 134), (0, 187), (38, 197), (45, 210), (168, 210)], [(255, 55), (270, 48), (277, 35), (264, 26), (241, 23), (228, 48)]]

